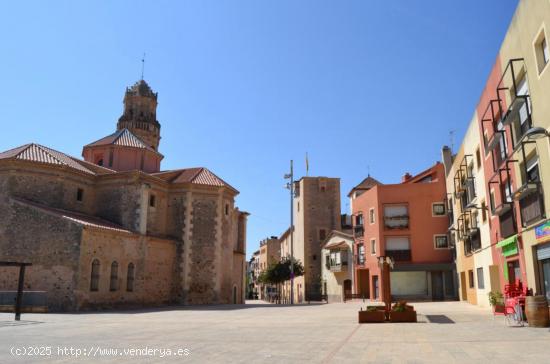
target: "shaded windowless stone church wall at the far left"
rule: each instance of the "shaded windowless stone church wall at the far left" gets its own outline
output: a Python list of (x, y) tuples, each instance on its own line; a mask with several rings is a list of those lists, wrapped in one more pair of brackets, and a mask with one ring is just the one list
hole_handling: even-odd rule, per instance
[[(82, 227), (35, 207), (2, 202), (1, 259), (32, 263), (25, 290), (46, 291), (51, 311), (74, 310)], [(0, 268), (0, 290), (17, 289), (17, 278), (18, 269)]]

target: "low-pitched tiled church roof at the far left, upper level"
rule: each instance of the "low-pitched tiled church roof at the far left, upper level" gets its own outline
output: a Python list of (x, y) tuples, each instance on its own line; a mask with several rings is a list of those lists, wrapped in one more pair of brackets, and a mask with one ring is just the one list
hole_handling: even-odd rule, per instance
[(0, 153), (0, 159), (17, 159), (26, 160), (37, 163), (62, 165), (76, 170), (95, 174), (91, 169), (86, 168), (84, 163), (73, 158), (67, 154), (58, 152), (56, 150), (44, 147), (40, 144), (25, 144), (20, 147), (10, 149), (8, 151)]

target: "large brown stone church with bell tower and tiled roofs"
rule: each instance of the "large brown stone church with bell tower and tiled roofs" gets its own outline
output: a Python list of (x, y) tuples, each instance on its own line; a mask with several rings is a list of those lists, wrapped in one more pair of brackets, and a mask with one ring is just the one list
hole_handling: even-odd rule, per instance
[[(161, 171), (156, 109), (141, 80), (84, 160), (38, 144), (0, 153), (0, 261), (32, 263), (25, 290), (50, 311), (244, 302), (239, 192), (206, 168)], [(0, 268), (0, 290), (17, 274)]]

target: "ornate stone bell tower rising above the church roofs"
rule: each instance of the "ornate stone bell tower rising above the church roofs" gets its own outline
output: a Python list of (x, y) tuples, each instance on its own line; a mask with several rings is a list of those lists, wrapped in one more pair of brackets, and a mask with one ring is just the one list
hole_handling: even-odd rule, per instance
[(118, 119), (117, 130), (128, 129), (158, 150), (160, 123), (157, 121), (157, 93), (144, 80), (126, 88), (124, 113)]

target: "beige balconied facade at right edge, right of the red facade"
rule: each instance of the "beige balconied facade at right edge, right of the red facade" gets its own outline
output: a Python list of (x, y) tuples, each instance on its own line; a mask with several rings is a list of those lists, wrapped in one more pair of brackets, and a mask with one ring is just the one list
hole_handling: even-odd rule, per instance
[[(508, 160), (527, 285), (550, 299), (550, 2), (520, 1), (500, 49), (503, 124), (513, 135)], [(517, 61), (514, 61), (517, 60)], [(512, 147), (512, 146), (511, 146)]]

